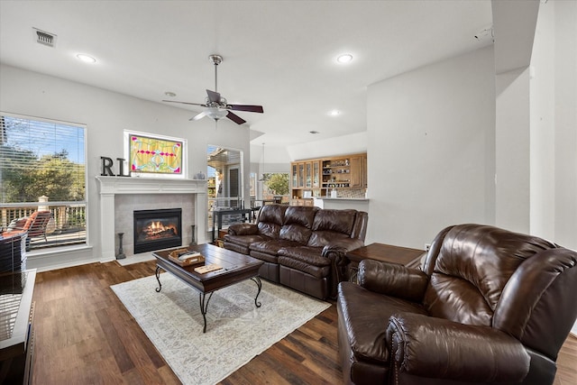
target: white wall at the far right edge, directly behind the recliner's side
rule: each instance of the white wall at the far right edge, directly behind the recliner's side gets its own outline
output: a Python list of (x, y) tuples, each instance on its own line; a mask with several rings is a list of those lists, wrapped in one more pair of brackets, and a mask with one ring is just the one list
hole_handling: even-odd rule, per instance
[[(539, 6), (531, 57), (531, 233), (577, 250), (577, 3)], [(577, 322), (572, 327), (577, 335)]]

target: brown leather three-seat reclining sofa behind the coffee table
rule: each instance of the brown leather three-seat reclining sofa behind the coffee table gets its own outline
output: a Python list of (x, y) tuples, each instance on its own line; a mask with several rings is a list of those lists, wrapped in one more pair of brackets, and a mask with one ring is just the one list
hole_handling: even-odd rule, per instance
[(367, 213), (357, 210), (266, 205), (256, 224), (228, 228), (224, 248), (264, 261), (261, 278), (335, 298), (346, 276), (344, 254), (364, 245), (367, 221)]

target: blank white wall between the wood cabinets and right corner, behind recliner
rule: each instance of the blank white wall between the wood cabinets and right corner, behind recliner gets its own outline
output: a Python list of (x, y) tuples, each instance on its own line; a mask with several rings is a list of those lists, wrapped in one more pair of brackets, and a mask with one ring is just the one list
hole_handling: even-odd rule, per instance
[(367, 242), (423, 248), (494, 220), (492, 47), (369, 87)]

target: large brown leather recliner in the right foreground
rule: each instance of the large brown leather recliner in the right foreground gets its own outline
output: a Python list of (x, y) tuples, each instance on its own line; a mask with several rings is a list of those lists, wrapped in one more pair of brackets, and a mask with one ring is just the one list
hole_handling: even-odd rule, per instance
[(577, 252), (488, 225), (439, 233), (422, 270), (364, 260), (337, 298), (345, 383), (554, 382)]

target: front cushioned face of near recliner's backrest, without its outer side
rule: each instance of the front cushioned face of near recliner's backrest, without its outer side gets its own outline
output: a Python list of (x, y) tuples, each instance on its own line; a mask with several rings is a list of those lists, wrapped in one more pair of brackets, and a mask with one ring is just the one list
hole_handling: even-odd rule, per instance
[[(440, 241), (440, 240), (439, 240)], [(501, 292), (527, 258), (555, 247), (540, 238), (489, 225), (456, 225), (444, 234), (434, 259), (425, 305), (431, 316), (492, 325)]]

